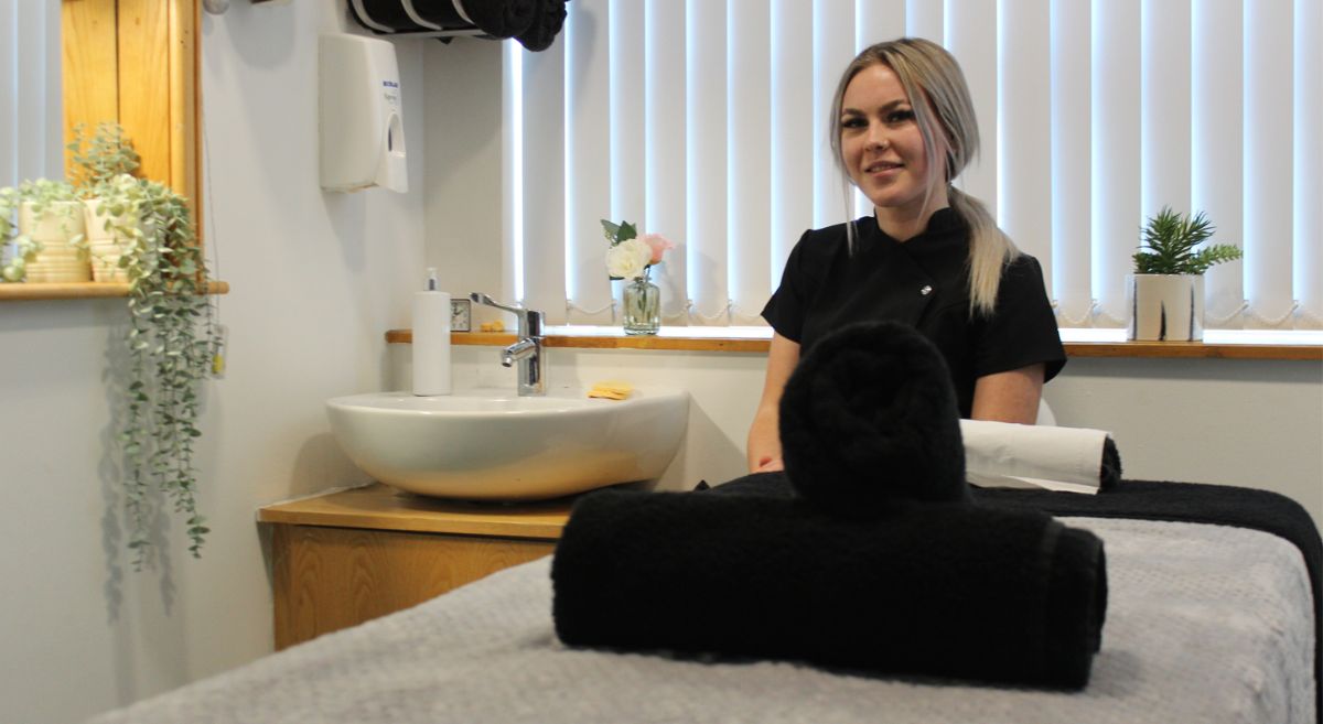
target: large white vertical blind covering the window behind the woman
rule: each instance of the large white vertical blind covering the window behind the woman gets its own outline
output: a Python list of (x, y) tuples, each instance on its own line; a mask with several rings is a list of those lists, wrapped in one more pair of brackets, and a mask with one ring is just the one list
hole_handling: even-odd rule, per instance
[(945, 45), (980, 157), (958, 185), (1043, 262), (1062, 326), (1123, 326), (1144, 219), (1204, 211), (1244, 259), (1215, 328), (1323, 328), (1323, 0), (574, 0), (505, 57), (508, 288), (618, 324), (599, 218), (677, 248), (672, 325), (759, 324), (791, 246), (871, 211), (827, 140), (836, 79), (900, 36)]

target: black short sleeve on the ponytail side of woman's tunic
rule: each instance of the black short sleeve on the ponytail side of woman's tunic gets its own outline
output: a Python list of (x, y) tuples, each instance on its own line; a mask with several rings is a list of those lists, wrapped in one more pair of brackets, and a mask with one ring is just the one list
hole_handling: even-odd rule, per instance
[(1039, 260), (1017, 256), (1002, 275), (996, 310), (976, 325), (974, 375), (984, 377), (1044, 363), (1044, 382), (1066, 363), (1056, 314)]

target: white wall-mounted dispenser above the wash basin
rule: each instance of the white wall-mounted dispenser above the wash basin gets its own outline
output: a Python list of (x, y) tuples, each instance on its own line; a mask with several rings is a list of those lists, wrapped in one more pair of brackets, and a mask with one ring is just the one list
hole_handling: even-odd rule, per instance
[(320, 37), (321, 188), (409, 190), (400, 69), (389, 41)]

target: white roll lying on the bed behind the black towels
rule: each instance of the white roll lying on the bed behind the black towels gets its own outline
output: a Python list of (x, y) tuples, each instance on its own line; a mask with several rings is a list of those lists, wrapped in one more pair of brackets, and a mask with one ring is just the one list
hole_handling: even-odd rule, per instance
[(1101, 429), (960, 420), (964, 472), (979, 488), (1097, 493), (1121, 477), (1121, 456)]

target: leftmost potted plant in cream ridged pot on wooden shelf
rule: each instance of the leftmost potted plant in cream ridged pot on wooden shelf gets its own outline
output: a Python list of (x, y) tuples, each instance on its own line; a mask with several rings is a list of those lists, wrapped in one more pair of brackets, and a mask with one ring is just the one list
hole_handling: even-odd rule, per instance
[(87, 281), (85, 221), (77, 190), (37, 178), (0, 189), (0, 267), (5, 281)]

